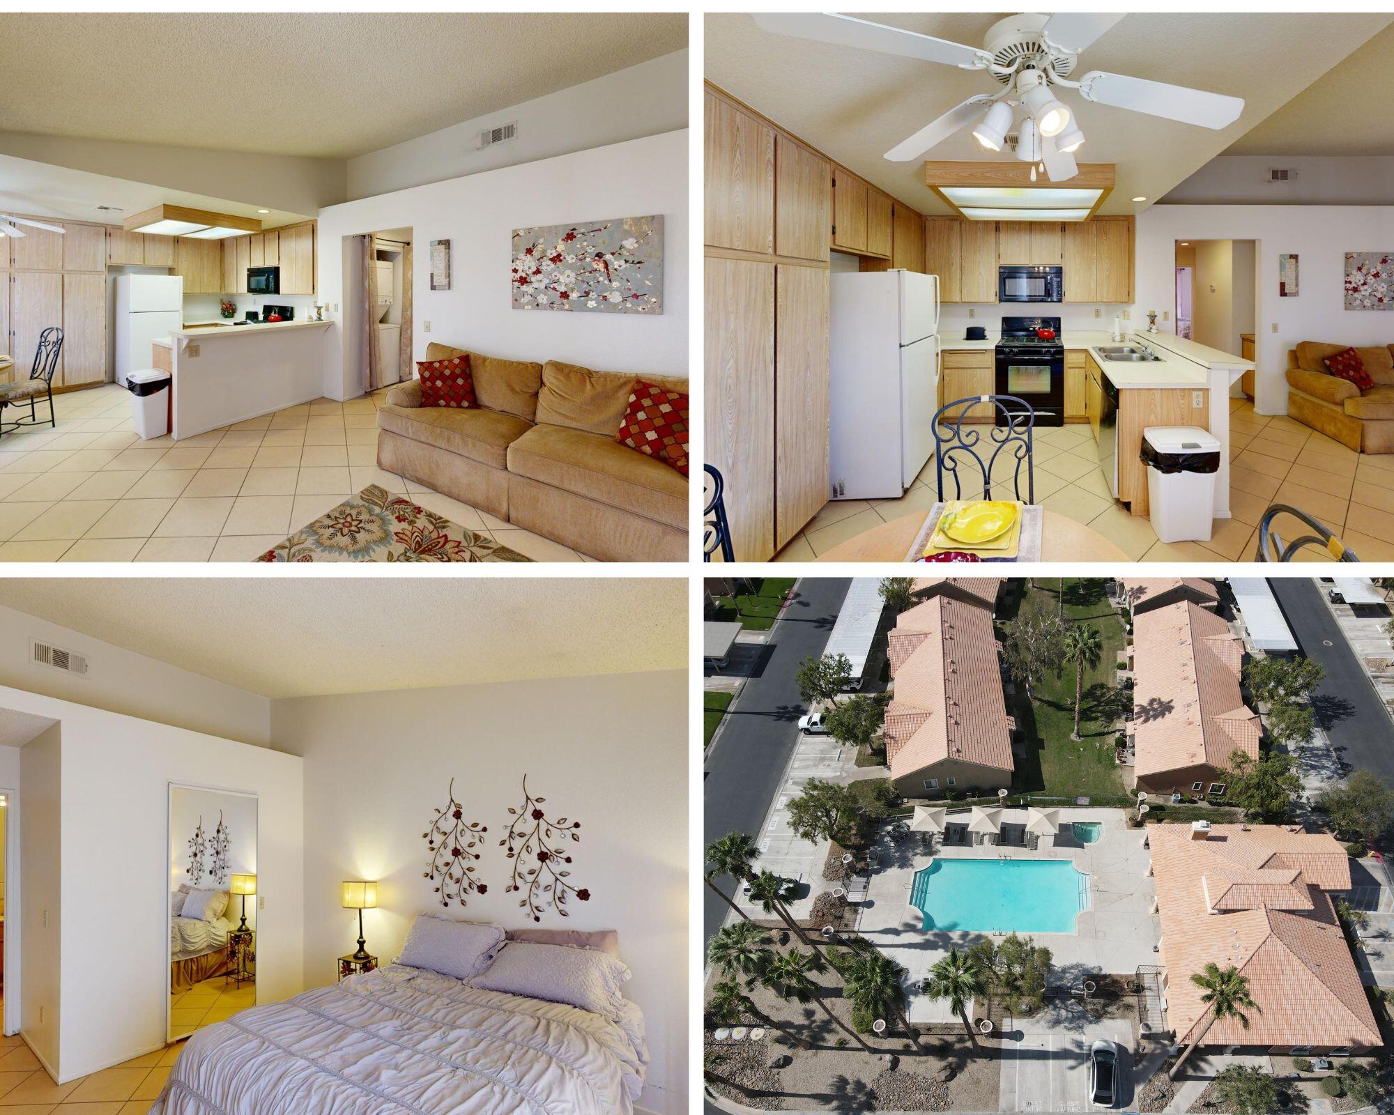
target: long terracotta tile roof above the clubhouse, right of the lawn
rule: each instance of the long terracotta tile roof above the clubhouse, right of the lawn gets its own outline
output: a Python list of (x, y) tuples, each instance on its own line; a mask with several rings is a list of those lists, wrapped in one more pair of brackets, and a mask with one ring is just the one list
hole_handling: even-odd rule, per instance
[(1190, 601), (1138, 616), (1133, 626), (1133, 739), (1139, 779), (1259, 755), (1259, 718), (1239, 693), (1243, 644)]

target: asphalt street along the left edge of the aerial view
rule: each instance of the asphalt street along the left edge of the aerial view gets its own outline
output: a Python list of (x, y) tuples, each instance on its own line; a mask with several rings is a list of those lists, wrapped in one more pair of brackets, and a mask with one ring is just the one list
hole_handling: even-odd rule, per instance
[[(746, 680), (726, 711), (703, 772), (703, 840), (729, 832), (760, 833), (783, 779), (806, 711), (795, 670), (810, 655), (822, 654), (848, 595), (848, 578), (809, 578), (795, 585), (781, 619), (769, 631), (756, 676)], [(730, 893), (730, 878), (717, 879)], [(703, 910), (703, 942), (721, 928), (729, 907), (708, 888)]]

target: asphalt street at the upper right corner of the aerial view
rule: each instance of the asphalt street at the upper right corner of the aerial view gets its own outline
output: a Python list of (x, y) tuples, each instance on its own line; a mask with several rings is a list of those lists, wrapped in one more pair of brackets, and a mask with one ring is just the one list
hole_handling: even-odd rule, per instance
[(1308, 577), (1274, 577), (1269, 584), (1302, 652), (1326, 669), (1312, 704), (1341, 765), (1374, 771), (1394, 786), (1394, 725), (1322, 598), (1322, 585)]

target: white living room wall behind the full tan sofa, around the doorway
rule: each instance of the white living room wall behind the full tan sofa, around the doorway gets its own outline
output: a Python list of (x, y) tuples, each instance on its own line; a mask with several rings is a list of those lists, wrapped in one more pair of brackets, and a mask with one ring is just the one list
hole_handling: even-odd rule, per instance
[[(664, 312), (579, 314), (512, 308), (514, 229), (605, 217), (664, 216)], [(343, 237), (410, 227), (414, 360), (432, 340), (491, 355), (620, 372), (687, 375), (687, 131), (450, 178), (319, 212), (319, 297), (339, 304), (325, 339), (325, 394), (362, 393), (344, 332), (358, 321), (346, 286)], [(429, 241), (450, 241), (452, 289), (431, 290)], [(431, 332), (427, 332), (427, 323)]]

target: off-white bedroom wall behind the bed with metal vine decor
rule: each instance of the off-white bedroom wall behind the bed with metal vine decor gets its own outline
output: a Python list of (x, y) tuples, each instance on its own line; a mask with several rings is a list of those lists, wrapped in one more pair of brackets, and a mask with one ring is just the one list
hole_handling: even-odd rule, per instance
[[(378, 879), (365, 912), (368, 949), (395, 958), (421, 912), (441, 912), (421, 833), (456, 797), (489, 828), (480, 861), (487, 895), (449, 916), (524, 924), (505, 893), (498, 839), (528, 787), (581, 821), (572, 867), (592, 898), (542, 927), (615, 928), (634, 971), (652, 1065), (640, 1105), (687, 1111), (687, 682), (683, 672), (556, 679), (276, 701), (277, 740), (305, 758), (305, 977), (333, 980), (357, 918), (339, 909), (343, 879)], [(634, 732), (620, 714), (643, 705)]]

